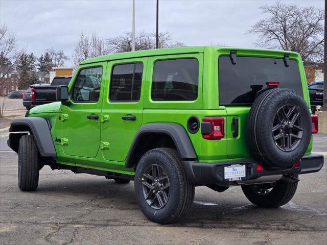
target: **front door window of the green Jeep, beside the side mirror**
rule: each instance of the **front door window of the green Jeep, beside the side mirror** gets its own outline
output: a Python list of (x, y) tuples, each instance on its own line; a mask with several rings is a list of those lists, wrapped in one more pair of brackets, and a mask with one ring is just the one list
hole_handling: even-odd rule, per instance
[(101, 79), (102, 67), (92, 67), (81, 70), (73, 87), (73, 101), (99, 101)]

